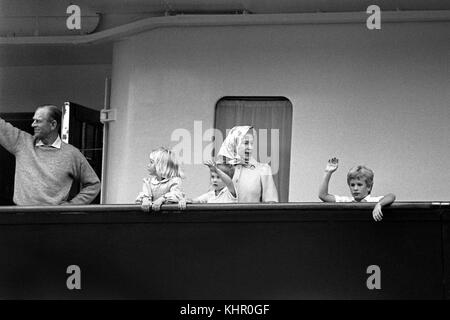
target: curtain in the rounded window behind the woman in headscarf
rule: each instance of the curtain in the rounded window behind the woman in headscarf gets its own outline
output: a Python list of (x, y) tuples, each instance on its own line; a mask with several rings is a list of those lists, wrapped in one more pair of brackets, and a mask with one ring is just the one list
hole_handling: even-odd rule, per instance
[[(253, 156), (272, 167), (280, 202), (288, 202), (291, 158), (292, 104), (286, 98), (223, 98), (216, 106), (215, 128), (225, 139), (234, 126), (256, 130)], [(215, 139), (215, 152), (221, 139)]]

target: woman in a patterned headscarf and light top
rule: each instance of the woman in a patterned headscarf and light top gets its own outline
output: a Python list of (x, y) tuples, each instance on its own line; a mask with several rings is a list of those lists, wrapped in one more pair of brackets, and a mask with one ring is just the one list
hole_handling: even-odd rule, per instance
[(218, 162), (234, 165), (233, 182), (238, 202), (278, 202), (272, 169), (252, 157), (255, 129), (237, 126), (230, 130), (218, 153)]

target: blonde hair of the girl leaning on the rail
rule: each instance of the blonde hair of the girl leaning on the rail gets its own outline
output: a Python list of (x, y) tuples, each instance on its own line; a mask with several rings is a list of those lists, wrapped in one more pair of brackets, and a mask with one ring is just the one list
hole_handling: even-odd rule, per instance
[(178, 159), (172, 150), (159, 147), (150, 152), (150, 158), (155, 161), (156, 174), (161, 178), (184, 177)]

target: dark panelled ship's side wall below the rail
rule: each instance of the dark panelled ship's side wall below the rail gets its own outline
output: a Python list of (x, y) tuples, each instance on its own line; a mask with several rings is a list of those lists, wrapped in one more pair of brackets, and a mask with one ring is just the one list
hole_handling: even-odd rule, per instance
[[(450, 210), (399, 203), (375, 222), (371, 208), (3, 207), (0, 298), (448, 298)], [(70, 265), (81, 269), (80, 290), (66, 286)], [(381, 289), (366, 285), (371, 265)]]

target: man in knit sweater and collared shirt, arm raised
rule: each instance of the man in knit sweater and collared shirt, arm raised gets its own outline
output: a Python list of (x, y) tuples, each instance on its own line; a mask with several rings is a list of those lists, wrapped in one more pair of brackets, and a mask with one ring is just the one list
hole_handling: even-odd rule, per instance
[[(0, 118), (0, 145), (16, 157), (14, 203), (17, 205), (89, 204), (100, 191), (100, 180), (74, 146), (61, 141), (61, 111), (37, 108), (34, 136)], [(73, 181), (80, 192), (68, 199)]]

